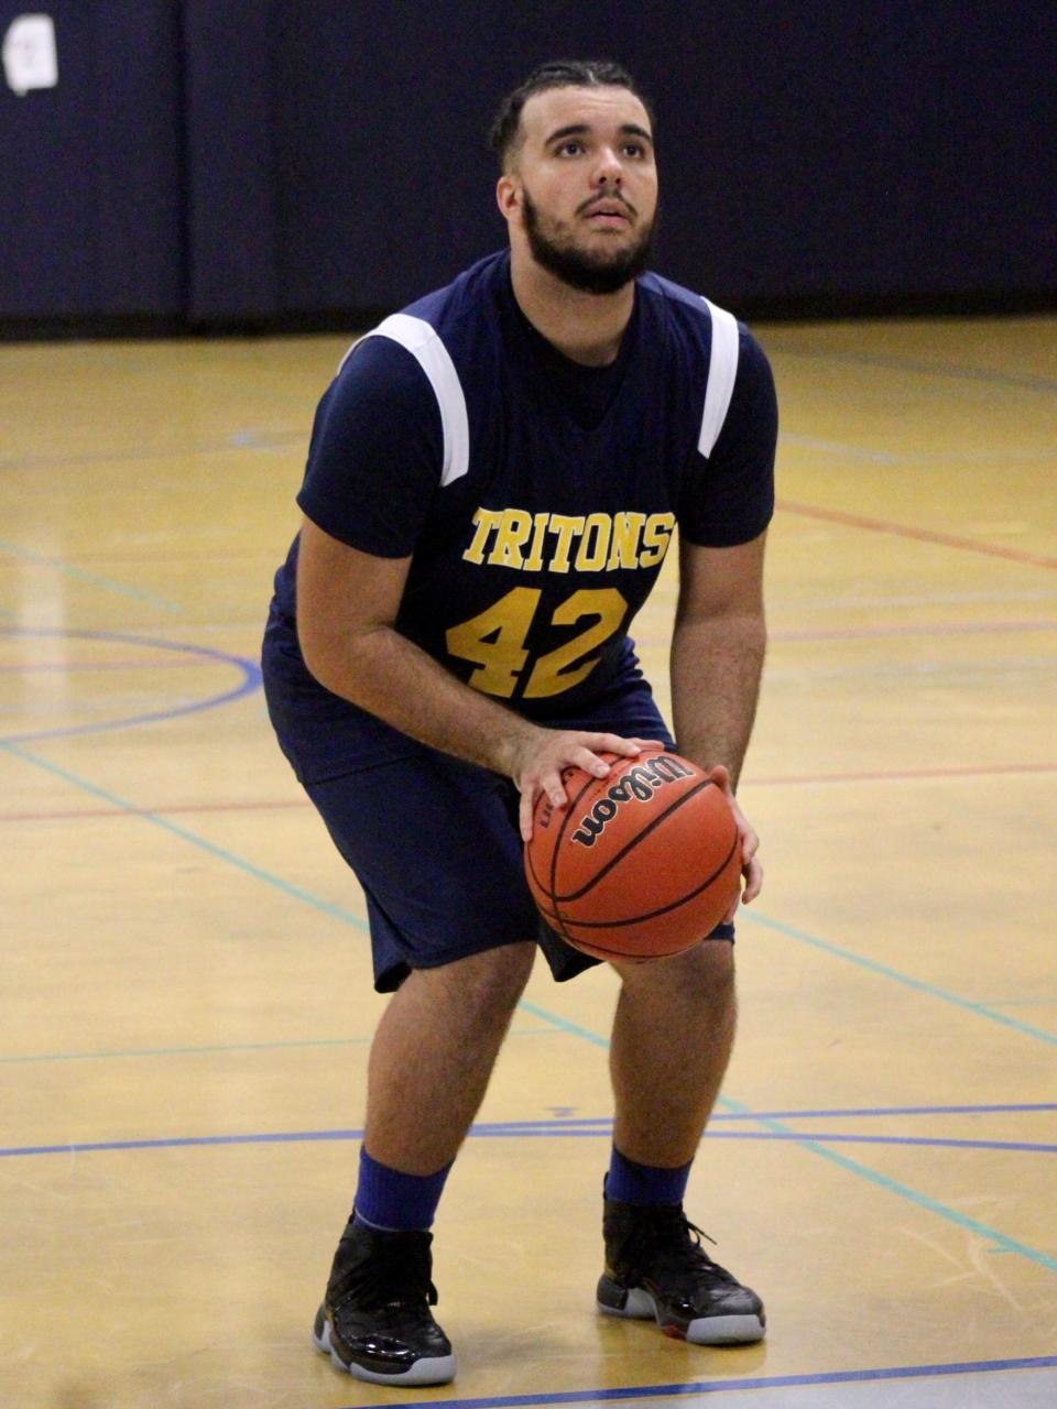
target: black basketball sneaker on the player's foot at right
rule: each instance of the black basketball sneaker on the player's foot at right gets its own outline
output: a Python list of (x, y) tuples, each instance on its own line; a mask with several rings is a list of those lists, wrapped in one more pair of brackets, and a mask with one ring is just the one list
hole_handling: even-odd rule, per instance
[(764, 1303), (713, 1262), (682, 1205), (605, 1200), (606, 1270), (598, 1284), (606, 1316), (653, 1317), (665, 1336), (696, 1346), (762, 1340)]

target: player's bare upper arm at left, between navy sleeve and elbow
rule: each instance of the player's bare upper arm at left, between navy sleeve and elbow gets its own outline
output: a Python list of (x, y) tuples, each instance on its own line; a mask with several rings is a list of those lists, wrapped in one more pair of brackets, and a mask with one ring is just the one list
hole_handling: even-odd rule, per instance
[(304, 519), (297, 555), (297, 638), (304, 664), (327, 683), (357, 638), (390, 627), (400, 609), (406, 558), (361, 552)]

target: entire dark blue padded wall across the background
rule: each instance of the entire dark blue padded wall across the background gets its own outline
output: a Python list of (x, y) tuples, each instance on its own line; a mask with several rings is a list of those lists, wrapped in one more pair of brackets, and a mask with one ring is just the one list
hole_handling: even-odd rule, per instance
[(655, 99), (657, 266), (734, 309), (1057, 299), (1053, 0), (0, 0), (0, 318), (399, 307), (499, 247), (485, 132), (536, 63)]

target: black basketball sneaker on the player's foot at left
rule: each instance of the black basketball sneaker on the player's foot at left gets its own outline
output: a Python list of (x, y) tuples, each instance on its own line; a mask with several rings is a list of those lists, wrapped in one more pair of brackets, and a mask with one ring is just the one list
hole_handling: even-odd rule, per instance
[(445, 1385), (451, 1341), (433, 1319), (431, 1233), (348, 1223), (311, 1339), (338, 1370), (375, 1385)]

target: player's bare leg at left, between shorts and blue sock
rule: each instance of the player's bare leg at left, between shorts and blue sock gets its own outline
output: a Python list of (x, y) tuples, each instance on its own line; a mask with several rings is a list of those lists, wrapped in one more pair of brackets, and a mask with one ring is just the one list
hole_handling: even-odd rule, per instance
[(416, 969), (378, 1024), (368, 1067), (364, 1147), (427, 1175), (455, 1158), (531, 972), (534, 944), (507, 944)]

